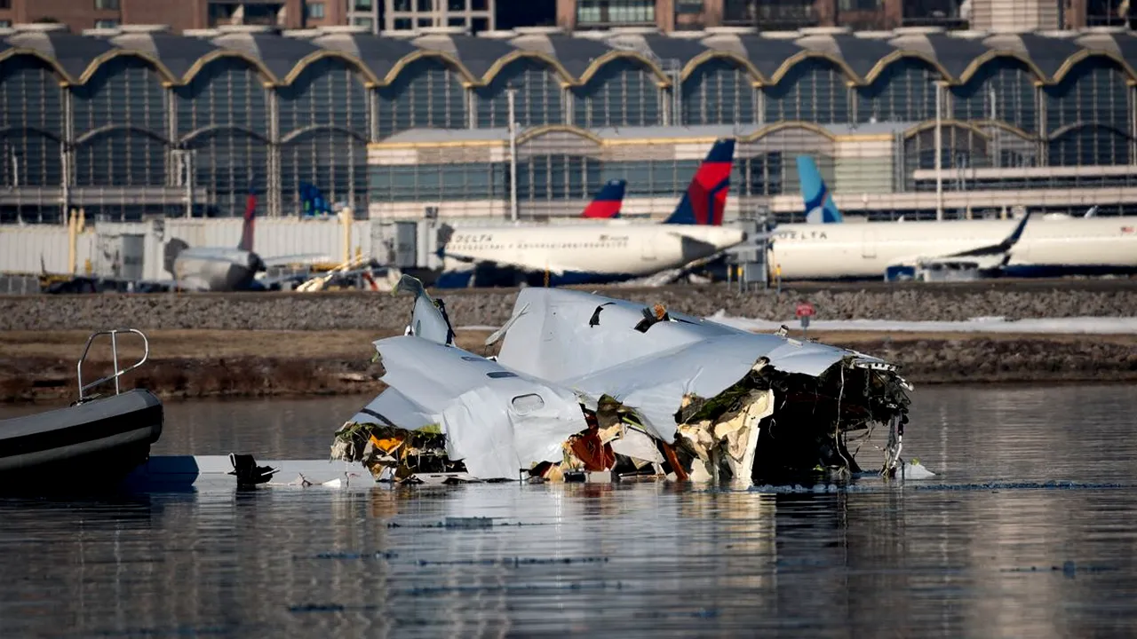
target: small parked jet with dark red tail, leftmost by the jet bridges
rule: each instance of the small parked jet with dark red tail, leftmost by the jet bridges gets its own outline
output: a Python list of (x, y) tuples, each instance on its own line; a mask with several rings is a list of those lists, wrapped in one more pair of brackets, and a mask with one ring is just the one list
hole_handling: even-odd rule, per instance
[(269, 266), (327, 259), (327, 256), (324, 255), (291, 255), (269, 258), (257, 255), (252, 250), (256, 215), (257, 196), (250, 190), (246, 201), (241, 241), (236, 248), (191, 248), (177, 238), (166, 242), (166, 271), (173, 274), (174, 279), (161, 283), (190, 291), (263, 290), (279, 281), (296, 279), (294, 275), (284, 275), (257, 280), (257, 273)]

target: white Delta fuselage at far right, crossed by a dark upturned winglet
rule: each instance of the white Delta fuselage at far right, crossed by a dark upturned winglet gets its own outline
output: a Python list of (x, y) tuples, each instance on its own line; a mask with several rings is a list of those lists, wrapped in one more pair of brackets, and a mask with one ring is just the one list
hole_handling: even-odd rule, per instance
[[(878, 279), (887, 267), (997, 244), (1014, 219), (785, 224), (773, 231), (771, 269), (783, 280)], [(1011, 251), (1009, 276), (1137, 271), (1137, 219), (1035, 219)]]

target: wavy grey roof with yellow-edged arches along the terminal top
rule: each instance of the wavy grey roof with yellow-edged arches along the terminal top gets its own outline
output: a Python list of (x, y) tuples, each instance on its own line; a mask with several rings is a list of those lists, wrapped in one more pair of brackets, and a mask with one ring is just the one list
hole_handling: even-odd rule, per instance
[[(671, 60), (687, 77), (700, 65), (731, 60), (755, 83), (775, 84), (795, 65), (829, 60), (854, 84), (871, 84), (889, 65), (924, 60), (951, 83), (966, 82), (998, 58), (1021, 60), (1043, 83), (1056, 83), (1086, 59), (1113, 60), (1137, 82), (1137, 38), (1132, 32), (1092, 27), (1069, 32), (977, 33), (908, 27), (893, 32), (852, 33), (843, 27), (757, 33), (739, 28), (661, 34), (653, 30), (614, 30), (566, 34), (555, 28), (518, 28), (471, 36), (457, 27), (423, 30), (406, 38), (376, 36), (352, 27), (322, 27), (281, 33), (264, 26), (224, 26), (174, 35), (161, 28), (124, 26), (91, 35), (68, 33), (63, 25), (17, 25), (0, 33), (0, 58), (19, 55), (50, 63), (67, 83), (83, 83), (119, 55), (148, 58), (171, 82), (192, 80), (196, 69), (222, 56), (256, 65), (266, 81), (291, 83), (323, 57), (343, 58), (373, 83), (385, 84), (409, 63), (438, 57), (471, 84), (483, 84), (511, 61), (533, 58), (549, 65), (565, 84), (586, 84), (604, 65), (637, 60), (669, 84)], [(103, 33), (106, 32), (106, 33)]]

